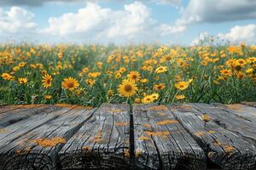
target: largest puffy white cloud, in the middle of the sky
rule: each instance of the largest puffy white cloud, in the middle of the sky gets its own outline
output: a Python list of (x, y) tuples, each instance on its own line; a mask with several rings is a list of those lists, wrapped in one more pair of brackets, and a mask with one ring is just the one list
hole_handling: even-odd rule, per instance
[(151, 18), (150, 8), (134, 2), (126, 4), (122, 10), (87, 3), (77, 13), (49, 18), (49, 27), (41, 33), (101, 42), (143, 42), (180, 31), (183, 31), (182, 27), (159, 24)]

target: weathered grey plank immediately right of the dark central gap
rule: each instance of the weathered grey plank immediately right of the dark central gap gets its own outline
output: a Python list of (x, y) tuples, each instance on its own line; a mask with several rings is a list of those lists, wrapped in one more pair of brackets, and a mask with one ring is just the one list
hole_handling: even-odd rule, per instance
[(165, 105), (134, 105), (138, 168), (205, 169), (201, 147)]

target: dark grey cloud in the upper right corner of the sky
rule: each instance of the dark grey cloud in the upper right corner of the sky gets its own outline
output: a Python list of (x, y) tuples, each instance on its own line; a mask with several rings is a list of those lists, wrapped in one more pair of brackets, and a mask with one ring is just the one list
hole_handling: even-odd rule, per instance
[(190, 0), (183, 8), (183, 24), (256, 19), (254, 0)]

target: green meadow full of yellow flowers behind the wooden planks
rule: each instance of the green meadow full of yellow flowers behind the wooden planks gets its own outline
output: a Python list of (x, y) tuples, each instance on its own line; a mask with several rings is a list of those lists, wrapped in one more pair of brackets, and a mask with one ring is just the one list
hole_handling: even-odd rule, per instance
[(256, 46), (0, 45), (0, 105), (256, 101)]

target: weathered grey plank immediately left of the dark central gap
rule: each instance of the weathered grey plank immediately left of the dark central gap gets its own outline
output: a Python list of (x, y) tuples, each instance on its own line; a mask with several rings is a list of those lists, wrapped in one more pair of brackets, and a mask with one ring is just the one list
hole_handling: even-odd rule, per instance
[(129, 168), (129, 111), (103, 104), (59, 152), (61, 168)]

